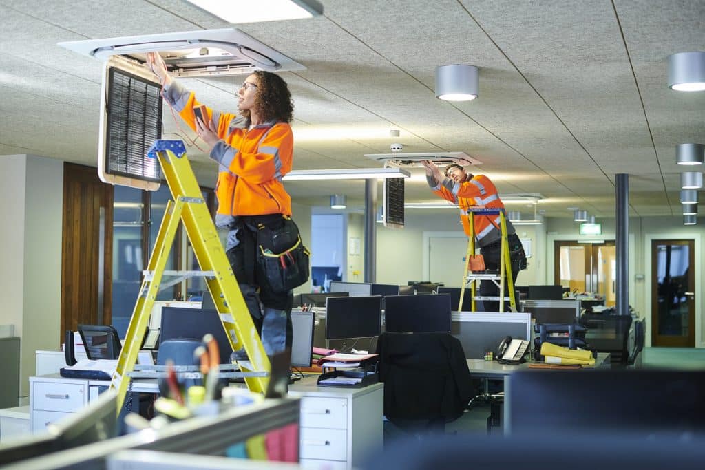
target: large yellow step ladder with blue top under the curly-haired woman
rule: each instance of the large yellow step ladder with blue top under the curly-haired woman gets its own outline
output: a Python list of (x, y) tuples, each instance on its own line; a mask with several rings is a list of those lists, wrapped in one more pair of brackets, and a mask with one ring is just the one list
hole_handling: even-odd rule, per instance
[[(233, 269), (228, 262), (225, 249), (216, 231), (212, 216), (196, 181), (191, 165), (186, 158), (185, 147), (180, 140), (157, 140), (150, 150), (150, 156), (159, 159), (164, 178), (171, 190), (173, 201), (166, 206), (154, 249), (149, 256), (147, 275), (142, 280), (140, 295), (137, 297), (125, 344), (118, 359), (118, 365), (111, 378), (110, 388), (118, 393), (118, 414), (123, 407), (137, 353), (142, 345), (149, 324), (149, 314), (164, 276), (164, 267), (173, 245), (179, 221), (188, 234), (196, 259), (202, 271), (207, 271), (206, 283), (223, 322), (228, 340), (233, 350), (245, 347), (252, 369), (240, 363), (240, 369), (247, 372), (266, 372), (266, 376), (245, 376), (247, 388), (252, 392), (264, 392), (269, 383), (270, 364), (259, 340), (255, 324), (235, 280)], [(245, 374), (246, 375), (246, 374)]]

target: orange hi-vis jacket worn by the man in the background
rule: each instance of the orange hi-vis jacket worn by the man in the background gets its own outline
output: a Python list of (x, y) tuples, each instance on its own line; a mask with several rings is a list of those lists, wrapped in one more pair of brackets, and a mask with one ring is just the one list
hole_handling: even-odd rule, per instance
[[(433, 177), (428, 177), (429, 186), (434, 193), (438, 194), (446, 201), (458, 204), (460, 208), (460, 222), (465, 230), (465, 235), (470, 236), (470, 222), (468, 214), (472, 206), (484, 206), (489, 209), (504, 209), (504, 204), (497, 194), (497, 188), (489, 178), (484, 175), (473, 176), (471, 180), (463, 183), (455, 183), (450, 178), (443, 181), (436, 181)], [(515, 233), (511, 222), (505, 218), (507, 224), (507, 235)], [(501, 230), (499, 228), (499, 214), (484, 216), (474, 215), (475, 240), (478, 247), (486, 247), (491, 243), (501, 240)]]

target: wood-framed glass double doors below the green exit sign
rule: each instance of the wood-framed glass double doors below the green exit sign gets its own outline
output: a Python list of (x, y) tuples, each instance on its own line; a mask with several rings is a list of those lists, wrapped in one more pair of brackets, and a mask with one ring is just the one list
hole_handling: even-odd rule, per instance
[(558, 240), (554, 244), (554, 283), (570, 292), (600, 295), (606, 307), (615, 305), (616, 250), (613, 241), (580, 243)]

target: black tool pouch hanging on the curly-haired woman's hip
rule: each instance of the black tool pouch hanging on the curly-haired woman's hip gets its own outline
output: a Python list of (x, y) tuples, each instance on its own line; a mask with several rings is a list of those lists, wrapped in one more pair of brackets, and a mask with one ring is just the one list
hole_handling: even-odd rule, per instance
[(281, 223), (261, 224), (257, 229), (257, 264), (271, 290), (288, 292), (305, 283), (311, 253), (294, 221), (282, 217)]

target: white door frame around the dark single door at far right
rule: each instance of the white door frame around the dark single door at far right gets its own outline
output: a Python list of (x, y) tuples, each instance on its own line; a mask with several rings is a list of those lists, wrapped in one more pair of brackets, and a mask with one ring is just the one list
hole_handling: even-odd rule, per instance
[[(701, 305), (703, 303), (702, 295), (703, 289), (701, 286), (702, 282), (702, 260), (700, 247), (701, 245), (701, 235), (697, 232), (683, 232), (678, 234), (663, 234), (663, 233), (646, 233), (644, 236), (644, 299), (646, 299), (646, 305), (644, 307), (644, 318), (646, 318), (646, 311), (649, 312), (649, 321), (646, 321), (646, 330), (644, 331), (646, 338), (644, 346), (651, 347), (651, 243), (654, 240), (693, 240), (694, 245), (694, 258), (695, 258), (695, 342), (694, 347), (705, 347), (703, 342), (702, 334), (702, 309)], [(646, 249), (648, 247), (648, 249)]]

